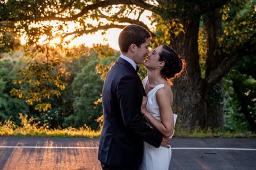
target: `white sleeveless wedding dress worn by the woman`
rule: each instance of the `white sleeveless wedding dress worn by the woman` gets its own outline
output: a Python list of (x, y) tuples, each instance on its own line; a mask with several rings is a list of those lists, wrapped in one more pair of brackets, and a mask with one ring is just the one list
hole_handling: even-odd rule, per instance
[[(145, 88), (148, 77), (143, 80), (143, 87)], [(147, 110), (159, 121), (161, 121), (159, 107), (156, 102), (156, 91), (164, 88), (164, 84), (158, 84), (151, 89), (147, 94)], [(176, 120), (175, 115), (175, 120)], [(150, 127), (152, 127), (150, 125)], [(144, 142), (143, 159), (140, 165), (140, 170), (168, 170), (172, 158), (172, 148), (164, 148), (160, 146), (155, 148)]]

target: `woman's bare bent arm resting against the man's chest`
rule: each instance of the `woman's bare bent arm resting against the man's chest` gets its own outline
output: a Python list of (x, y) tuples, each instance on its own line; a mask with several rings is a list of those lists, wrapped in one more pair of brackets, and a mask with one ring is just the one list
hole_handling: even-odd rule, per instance
[(145, 109), (145, 101), (143, 100), (144, 106), (141, 106), (141, 113), (164, 137), (170, 137), (173, 134), (174, 129), (174, 118), (171, 108), (172, 104), (172, 93), (168, 89), (161, 88), (156, 92), (156, 100), (159, 106), (161, 121), (157, 120)]

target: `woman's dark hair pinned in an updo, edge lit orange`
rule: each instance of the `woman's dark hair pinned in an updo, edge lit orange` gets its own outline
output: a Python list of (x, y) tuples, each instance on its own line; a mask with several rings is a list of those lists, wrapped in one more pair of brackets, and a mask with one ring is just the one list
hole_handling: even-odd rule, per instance
[(184, 70), (185, 60), (167, 45), (162, 47), (163, 50), (159, 53), (159, 61), (164, 61), (165, 65), (160, 73), (167, 80), (174, 79)]

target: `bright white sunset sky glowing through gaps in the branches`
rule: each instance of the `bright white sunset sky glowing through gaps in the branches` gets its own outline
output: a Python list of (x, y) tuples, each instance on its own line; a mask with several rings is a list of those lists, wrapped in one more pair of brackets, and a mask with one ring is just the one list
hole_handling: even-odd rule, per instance
[[(152, 13), (149, 11), (145, 11), (141, 17), (140, 20), (142, 22), (144, 22), (150, 29), (154, 29), (154, 26), (151, 25), (150, 20), (148, 19), (148, 16), (151, 16)], [(129, 16), (131, 17), (131, 19), (134, 19), (136, 16), (135, 15), (131, 15)], [(107, 20), (100, 20), (100, 22), (108, 22)], [(93, 26), (97, 26), (97, 21), (95, 20), (86, 20), (86, 23), (88, 24), (92, 24)], [(67, 22), (68, 27), (64, 28), (64, 32), (65, 33), (71, 33), (76, 31), (77, 28), (79, 28), (79, 24), (75, 23), (75, 22)], [(40, 27), (40, 26), (47, 26), (47, 25), (51, 25), (53, 27), (54, 31), (54, 35), (56, 36), (58, 33), (60, 33), (60, 31), (58, 31), (58, 21), (54, 21), (52, 20), (51, 22), (43, 22), (42, 25), (39, 24), (31, 24), (31, 27)], [(62, 31), (62, 32), (63, 32)], [(118, 47), (118, 36), (120, 34), (120, 32), (122, 31), (122, 29), (117, 29), (117, 28), (113, 28), (113, 29), (108, 29), (105, 34), (102, 34), (103, 31), (97, 31), (96, 33), (90, 34), (90, 35), (83, 35), (83, 36), (79, 36), (77, 38), (75, 38), (74, 40), (72, 40), (72, 38), (74, 36), (67, 36), (64, 41), (68, 41), (70, 40), (70, 43), (68, 43), (68, 47), (73, 47), (73, 46), (79, 46), (81, 44), (84, 44), (85, 46), (88, 47), (93, 47), (93, 44), (97, 44), (97, 43), (101, 43), (101, 44), (109, 44), (110, 47), (112, 47), (113, 49), (119, 50)], [(26, 35), (23, 35), (20, 38), (20, 42), (22, 44), (26, 43)], [(39, 42), (40, 44), (49, 44), (52, 46), (57, 45), (58, 43), (60, 43), (60, 37), (56, 36), (56, 38), (54, 38), (53, 40), (47, 40), (47, 36), (41, 36)]]

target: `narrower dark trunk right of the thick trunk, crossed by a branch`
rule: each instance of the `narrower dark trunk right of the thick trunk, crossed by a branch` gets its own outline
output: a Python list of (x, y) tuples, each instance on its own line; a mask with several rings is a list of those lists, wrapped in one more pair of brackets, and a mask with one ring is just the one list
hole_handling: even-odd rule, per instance
[[(207, 12), (204, 15), (204, 24), (206, 29), (206, 56), (205, 78), (211, 76), (212, 70), (218, 68), (223, 57), (218, 52), (217, 37), (221, 35), (221, 15), (219, 10)], [(205, 101), (207, 102), (207, 112), (205, 113), (204, 127), (224, 128), (225, 116), (224, 106), (225, 100), (223, 95), (222, 81), (211, 87), (205, 84)]]

